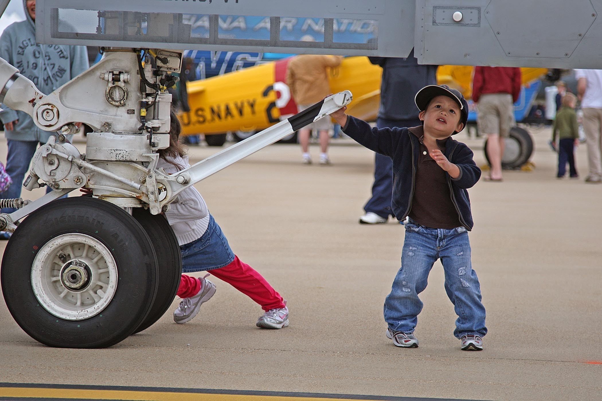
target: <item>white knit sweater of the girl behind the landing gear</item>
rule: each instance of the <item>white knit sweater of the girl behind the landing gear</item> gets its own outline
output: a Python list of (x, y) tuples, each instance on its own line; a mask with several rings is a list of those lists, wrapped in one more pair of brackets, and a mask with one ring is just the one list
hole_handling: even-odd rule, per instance
[[(181, 166), (181, 168), (175, 167), (173, 164), (160, 158), (157, 168), (163, 168), (167, 174), (178, 173), (178, 171), (190, 167), (188, 156), (167, 159)], [(172, 226), (176, 237), (178, 237), (179, 245), (184, 245), (200, 238), (209, 225), (207, 204), (194, 186), (189, 186), (178, 194), (176, 199), (170, 203), (169, 210), (167, 210), (165, 216)]]

